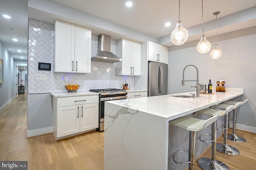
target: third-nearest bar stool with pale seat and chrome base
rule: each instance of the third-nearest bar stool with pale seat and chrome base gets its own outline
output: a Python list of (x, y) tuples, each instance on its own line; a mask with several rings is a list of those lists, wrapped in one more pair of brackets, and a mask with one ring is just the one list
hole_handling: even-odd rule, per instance
[[(218, 105), (212, 106), (210, 108), (214, 108), (214, 109), (217, 109), (217, 108), (218, 109), (227, 109), (230, 106), (232, 106), (232, 109), (234, 109), (235, 107), (240, 106), (241, 103), (242, 102), (240, 102), (237, 105), (218, 104)], [(216, 143), (216, 150), (218, 152), (221, 152), (221, 153), (224, 153), (224, 154), (228, 154), (228, 155), (238, 155), (238, 154), (240, 154), (238, 149), (228, 145), (228, 135), (227, 135), (228, 134), (228, 113), (224, 117), (224, 125), (223, 126), (224, 126), (223, 129), (218, 129), (217, 128), (218, 130), (224, 130), (224, 141), (223, 141), (223, 143)]]

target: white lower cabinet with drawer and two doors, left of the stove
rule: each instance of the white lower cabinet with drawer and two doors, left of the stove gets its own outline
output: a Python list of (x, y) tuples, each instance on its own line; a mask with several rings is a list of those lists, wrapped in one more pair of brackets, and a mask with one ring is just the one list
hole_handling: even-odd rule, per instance
[(54, 98), (53, 101), (56, 139), (98, 128), (98, 96)]

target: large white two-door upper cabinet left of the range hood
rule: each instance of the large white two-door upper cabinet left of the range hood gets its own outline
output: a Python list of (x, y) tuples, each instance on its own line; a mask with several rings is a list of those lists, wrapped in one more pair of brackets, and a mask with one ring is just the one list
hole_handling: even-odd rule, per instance
[(90, 29), (55, 21), (54, 72), (91, 72)]

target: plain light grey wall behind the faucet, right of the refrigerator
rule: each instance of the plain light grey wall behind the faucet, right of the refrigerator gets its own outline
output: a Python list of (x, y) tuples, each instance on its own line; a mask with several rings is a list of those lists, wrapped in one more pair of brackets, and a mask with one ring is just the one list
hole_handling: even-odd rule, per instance
[[(207, 35), (206, 35), (207, 36)], [(208, 41), (215, 43), (215, 37), (207, 37)], [(222, 50), (220, 59), (212, 60), (209, 53), (199, 54), (193, 41), (181, 46), (171, 46), (168, 52), (168, 93), (196, 91), (196, 82), (185, 82), (181, 86), (182, 71), (188, 64), (198, 68), (200, 83), (212, 80), (224, 80), (226, 87), (244, 88), (243, 100), (248, 102), (238, 108), (237, 129), (256, 133), (256, 27), (233, 31), (217, 36), (218, 47)], [(196, 80), (196, 69), (192, 66), (186, 68), (185, 80)], [(238, 98), (236, 100), (242, 100)]]

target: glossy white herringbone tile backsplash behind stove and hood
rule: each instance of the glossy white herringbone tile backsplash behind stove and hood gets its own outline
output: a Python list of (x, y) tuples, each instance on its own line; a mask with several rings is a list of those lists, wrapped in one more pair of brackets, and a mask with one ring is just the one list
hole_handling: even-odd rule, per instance
[[(92, 55), (98, 51), (98, 35), (92, 35)], [(111, 52), (116, 54), (116, 40), (111, 40)], [(116, 76), (116, 64), (92, 61), (90, 74), (53, 72), (53, 24), (29, 19), (28, 33), (28, 94), (67, 92), (62, 84), (78, 84), (77, 91), (100, 88), (122, 88), (125, 81), (134, 88), (134, 76)], [(51, 71), (38, 70), (38, 62), (51, 63)], [(35, 80), (35, 74), (46, 74), (47, 80)]]

